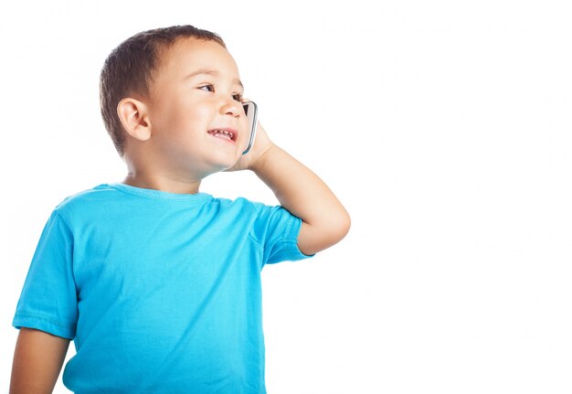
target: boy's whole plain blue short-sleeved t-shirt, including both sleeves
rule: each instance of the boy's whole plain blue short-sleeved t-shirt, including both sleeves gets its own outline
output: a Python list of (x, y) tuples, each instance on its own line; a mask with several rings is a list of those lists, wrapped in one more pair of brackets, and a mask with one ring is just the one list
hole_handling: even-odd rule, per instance
[(13, 325), (73, 339), (83, 393), (264, 393), (260, 270), (301, 260), (281, 207), (123, 184), (66, 198)]

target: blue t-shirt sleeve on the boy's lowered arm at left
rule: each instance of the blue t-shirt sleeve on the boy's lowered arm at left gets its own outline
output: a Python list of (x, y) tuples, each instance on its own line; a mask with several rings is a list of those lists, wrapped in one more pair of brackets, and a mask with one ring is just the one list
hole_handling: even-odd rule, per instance
[(72, 259), (71, 231), (55, 210), (38, 241), (12, 325), (75, 337), (78, 301)]

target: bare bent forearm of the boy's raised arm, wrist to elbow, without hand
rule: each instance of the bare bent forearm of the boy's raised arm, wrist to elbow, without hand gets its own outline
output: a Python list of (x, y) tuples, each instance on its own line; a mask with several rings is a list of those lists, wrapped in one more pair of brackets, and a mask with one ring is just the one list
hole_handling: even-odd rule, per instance
[(302, 219), (298, 246), (313, 254), (342, 240), (350, 226), (334, 193), (308, 167), (272, 144), (251, 168), (270, 187), (283, 208)]

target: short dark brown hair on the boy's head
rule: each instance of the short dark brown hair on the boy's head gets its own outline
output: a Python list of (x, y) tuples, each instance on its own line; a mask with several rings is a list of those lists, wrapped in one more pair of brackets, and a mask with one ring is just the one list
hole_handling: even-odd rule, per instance
[(190, 25), (162, 27), (127, 38), (105, 60), (100, 76), (101, 116), (121, 156), (124, 153), (125, 131), (117, 114), (119, 101), (133, 94), (147, 97), (160, 54), (173, 46), (177, 39), (184, 37), (215, 41), (227, 48), (221, 37), (208, 30)]

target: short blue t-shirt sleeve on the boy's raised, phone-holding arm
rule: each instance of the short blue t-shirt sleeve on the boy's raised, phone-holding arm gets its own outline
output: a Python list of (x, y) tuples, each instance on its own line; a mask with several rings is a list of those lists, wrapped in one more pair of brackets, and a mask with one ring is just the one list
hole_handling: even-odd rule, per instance
[(260, 206), (252, 233), (263, 247), (263, 264), (297, 261), (308, 256), (298, 249), (302, 220), (285, 208)]

